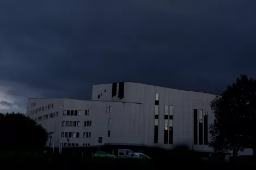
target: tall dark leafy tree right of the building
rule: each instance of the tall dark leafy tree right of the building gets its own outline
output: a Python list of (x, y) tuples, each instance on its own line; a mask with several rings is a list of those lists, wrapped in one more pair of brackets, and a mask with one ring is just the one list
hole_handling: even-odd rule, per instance
[(210, 106), (215, 120), (209, 146), (235, 152), (250, 148), (256, 155), (256, 81), (240, 75)]

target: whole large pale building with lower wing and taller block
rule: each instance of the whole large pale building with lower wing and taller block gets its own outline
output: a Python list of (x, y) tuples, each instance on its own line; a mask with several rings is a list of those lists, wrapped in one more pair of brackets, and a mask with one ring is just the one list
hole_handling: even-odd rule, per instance
[(103, 137), (103, 144), (187, 144), (212, 151), (208, 128), (215, 97), (141, 83), (99, 84), (93, 85), (92, 100), (29, 98), (27, 115), (54, 132), (51, 146), (92, 146)]

